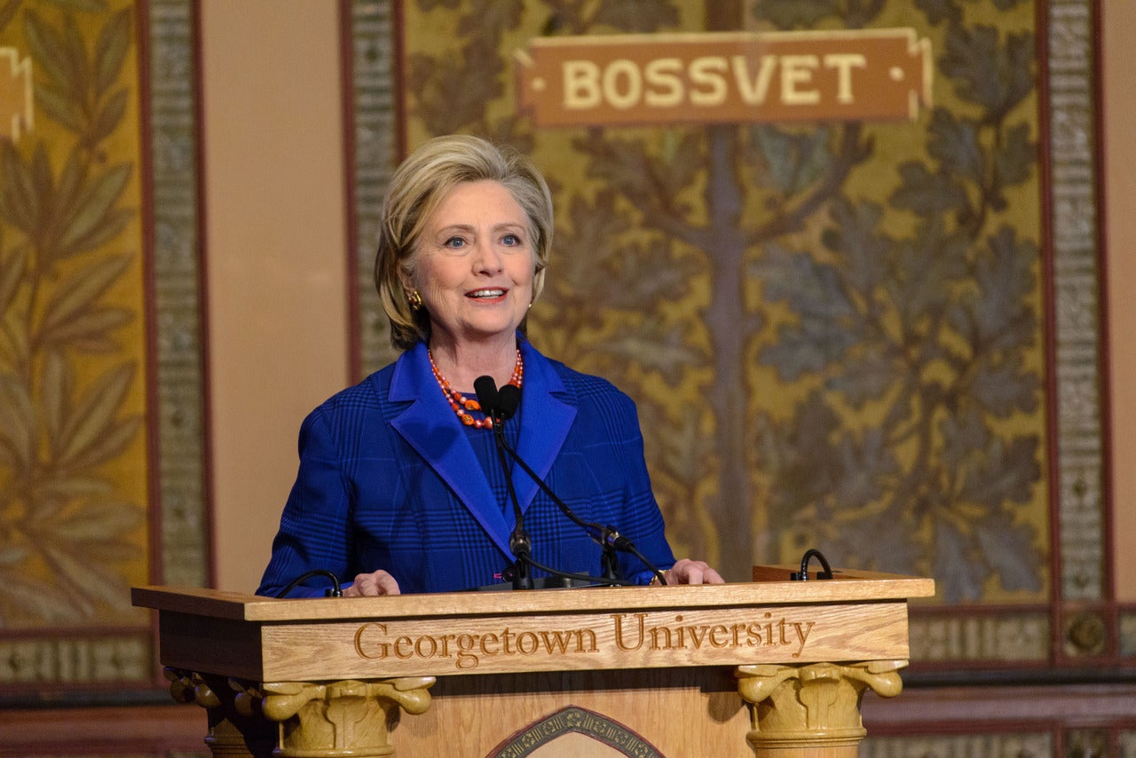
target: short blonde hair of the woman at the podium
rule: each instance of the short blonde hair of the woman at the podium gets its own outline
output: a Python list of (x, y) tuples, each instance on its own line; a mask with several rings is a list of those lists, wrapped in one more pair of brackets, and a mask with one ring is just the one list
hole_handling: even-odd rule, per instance
[(533, 242), (533, 302), (544, 289), (544, 269), (552, 248), (552, 193), (536, 166), (512, 148), (482, 138), (434, 138), (398, 167), (383, 202), (375, 286), (391, 323), (391, 344), (400, 350), (429, 339), (429, 314), (425, 308), (410, 307), (403, 286), (414, 274), (426, 220), (454, 186), (481, 181), (499, 182), (525, 211)]

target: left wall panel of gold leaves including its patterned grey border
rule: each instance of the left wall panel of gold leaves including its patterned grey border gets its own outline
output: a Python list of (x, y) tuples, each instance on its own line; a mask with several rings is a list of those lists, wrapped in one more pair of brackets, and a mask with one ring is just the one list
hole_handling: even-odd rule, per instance
[(192, 39), (186, 0), (0, 3), (5, 693), (150, 686), (130, 588), (207, 581)]

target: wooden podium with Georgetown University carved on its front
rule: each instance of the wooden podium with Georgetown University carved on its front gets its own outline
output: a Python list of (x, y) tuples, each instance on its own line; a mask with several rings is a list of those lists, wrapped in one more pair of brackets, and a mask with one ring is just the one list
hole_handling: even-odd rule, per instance
[(752, 584), (276, 600), (135, 588), (215, 756), (841, 756), (894, 697), (908, 599), (835, 572)]

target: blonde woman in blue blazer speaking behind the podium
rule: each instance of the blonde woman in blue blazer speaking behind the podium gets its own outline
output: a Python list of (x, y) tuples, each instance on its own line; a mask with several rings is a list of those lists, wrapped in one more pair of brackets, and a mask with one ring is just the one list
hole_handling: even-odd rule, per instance
[[(542, 356), (520, 327), (541, 293), (552, 198), (527, 158), (471, 136), (431, 140), (395, 172), (375, 281), (404, 352), (314, 410), (300, 470), (258, 593), (314, 569), (346, 595), (500, 585), (516, 559), (513, 505), (474, 381), (520, 389), (507, 442), (583, 519), (612, 525), (670, 583), (720, 583), (675, 563), (651, 493), (634, 403), (610, 383)], [(513, 466), (532, 558), (595, 575), (600, 549)], [(628, 582), (654, 581), (620, 555)], [(540, 572), (534, 572), (540, 576)], [(328, 580), (291, 595), (323, 594)]]

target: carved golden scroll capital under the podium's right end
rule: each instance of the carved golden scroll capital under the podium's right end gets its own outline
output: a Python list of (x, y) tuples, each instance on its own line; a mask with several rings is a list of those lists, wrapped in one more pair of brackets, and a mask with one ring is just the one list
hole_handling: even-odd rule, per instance
[[(738, 666), (737, 691), (750, 705), (750, 744), (758, 755), (786, 748), (855, 747), (864, 690), (894, 698), (903, 689), (905, 660), (859, 664), (760, 664)], [(833, 753), (830, 753), (833, 755)]]

